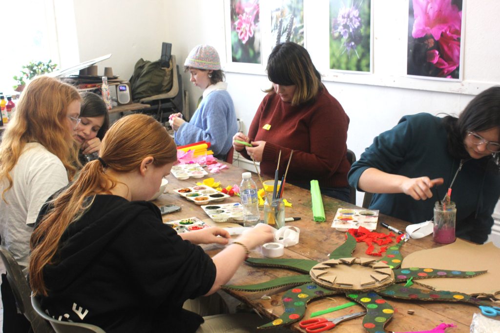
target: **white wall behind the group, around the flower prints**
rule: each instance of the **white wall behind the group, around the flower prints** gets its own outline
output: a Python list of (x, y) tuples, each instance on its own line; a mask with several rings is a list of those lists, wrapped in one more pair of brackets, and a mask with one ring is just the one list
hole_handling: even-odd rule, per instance
[[(337, 82), (324, 81), (350, 118), (347, 146), (356, 156), (374, 136), (394, 126), (402, 115), (417, 112), (458, 114), (474, 94), (500, 84), (500, 44), (495, 42), (500, 35), (500, 1), (464, 0), (465, 47), (461, 83), (404, 77), (407, 1), (372, 2), (373, 74), (365, 75), (364, 79), (362, 76), (352, 78), (352, 74), (338, 75), (335, 79), (330, 74), (328, 78)], [(324, 57), (318, 50), (324, 48), (326, 34), (314, 27), (324, 26), (327, 4), (328, 0), (304, 0), (305, 22), (312, 27), (306, 30), (307, 48), (322, 74), (328, 73), (317, 63)], [(225, 62), (224, 0), (75, 0), (74, 9), (80, 60), (113, 54), (109, 60), (98, 64), (99, 70), (112, 66), (115, 74), (128, 79), (138, 58), (155, 60), (159, 57), (162, 41), (172, 43), (172, 54), (180, 65), (189, 50), (200, 43), (214, 46)], [(103, 35), (103, 31), (107, 31), (107, 35)], [(237, 117), (246, 131), (264, 95), (261, 90), (267, 88), (269, 82), (265, 75), (230, 72), (226, 73), (226, 81)], [(189, 91), (192, 112), (201, 91), (190, 84), (186, 73), (183, 73), (183, 83)], [(425, 90), (427, 86), (438, 91)], [(358, 196), (358, 204), (361, 200), (362, 196)]]

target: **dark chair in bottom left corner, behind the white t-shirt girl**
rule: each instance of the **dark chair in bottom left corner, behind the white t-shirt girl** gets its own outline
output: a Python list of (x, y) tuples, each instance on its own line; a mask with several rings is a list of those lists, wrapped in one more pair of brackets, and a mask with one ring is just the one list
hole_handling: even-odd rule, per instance
[(12, 253), (3, 246), (0, 246), (0, 257), (7, 271), (7, 281), (14, 295), (19, 312), (27, 318), (34, 333), (53, 333), (54, 331), (50, 328), (50, 325), (41, 319), (31, 306), (29, 299), (31, 288)]

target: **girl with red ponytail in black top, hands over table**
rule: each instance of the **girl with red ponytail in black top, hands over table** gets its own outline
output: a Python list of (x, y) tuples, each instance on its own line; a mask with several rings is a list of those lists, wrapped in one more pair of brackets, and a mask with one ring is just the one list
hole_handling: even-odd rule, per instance
[[(231, 244), (221, 228), (177, 235), (163, 224), (146, 200), (176, 160), (160, 123), (125, 116), (107, 131), (99, 158), (42, 207), (30, 240), (29, 282), (50, 316), (108, 333), (195, 332), (204, 319), (183, 310), (184, 301), (215, 293), (249, 249), (273, 239), (264, 224)], [(227, 247), (210, 258), (197, 244), (211, 243)], [(231, 332), (222, 329), (224, 316), (215, 317), (220, 330), (209, 332)]]

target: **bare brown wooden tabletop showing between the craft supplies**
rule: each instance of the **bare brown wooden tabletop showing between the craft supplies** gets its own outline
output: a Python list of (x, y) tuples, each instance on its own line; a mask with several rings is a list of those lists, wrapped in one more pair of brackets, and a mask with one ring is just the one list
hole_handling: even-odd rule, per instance
[[(239, 182), (241, 181), (241, 172), (244, 171), (246, 170), (233, 165), (229, 165), (229, 169), (224, 169), (219, 174), (213, 175), (213, 177), (215, 178), (215, 181), (221, 181), (221, 185), (223, 185), (223, 187), (233, 184), (239, 185)], [(211, 176), (212, 175), (208, 175), (205, 178)], [(255, 174), (253, 174), (252, 178), (257, 184), (259, 184), (258, 178)], [(167, 194), (161, 195), (155, 201), (155, 203), (157, 205), (173, 203), (181, 206), (182, 210), (177, 213), (164, 215), (163, 220), (165, 222), (182, 218), (189, 218), (193, 216), (202, 220), (206, 220), (208, 218), (199, 206), (195, 205), (191, 201), (187, 201), (187, 199), (185, 198), (179, 197), (175, 192), (173, 192), (173, 189), (193, 186), (196, 182), (201, 182), (202, 179), (189, 178), (187, 180), (177, 180), (172, 175), (170, 175), (168, 176), (168, 181), (169, 184), (167, 187)], [(293, 205), (293, 207), (291, 208), (285, 208), (285, 216), (299, 216), (301, 217), (301, 220), (286, 223), (286, 225), (292, 225), (300, 228), (300, 241), (297, 245), (286, 248), (284, 251), (284, 256), (282, 258), (304, 258), (312, 259), (318, 262), (327, 260), (329, 253), (344, 241), (344, 233), (330, 228), (331, 221), (333, 221), (333, 217), (337, 211), (337, 208), (354, 206), (323, 196), (323, 206), (326, 222), (316, 223), (312, 219), (311, 198), (309, 191), (286, 184), (284, 198), (289, 200)], [(228, 198), (224, 203), (227, 202), (239, 202), (239, 197)], [(377, 231), (383, 233), (387, 233), (388, 230), (380, 228), (380, 222), (385, 222), (391, 226), (398, 228), (399, 230), (404, 230), (407, 225), (407, 223), (404, 221), (384, 215), (379, 216), (378, 222), (379, 227), (377, 228)], [(427, 236), (418, 240), (409, 240), (401, 247), (401, 254), (404, 258), (404, 256), (414, 251), (433, 247), (438, 247), (438, 245), (432, 242), (431, 236)], [(369, 257), (368, 255), (364, 254), (365, 250), (366, 245), (364, 243), (358, 243), (356, 250), (353, 253), (353, 257)], [(205, 251), (212, 256), (220, 251), (220, 248), (214, 246), (206, 246)], [(255, 251), (252, 251), (250, 256), (260, 258), (262, 257), (260, 253)], [(255, 268), (243, 264), (240, 266), (240, 268), (237, 270), (236, 274), (228, 284), (255, 284), (259, 282), (266, 282), (277, 277), (292, 276), (297, 274), (298, 273), (289, 270)], [(413, 285), (413, 287), (418, 288), (415, 285)], [(284, 291), (288, 290), (289, 288), (290, 287), (285, 287), (281, 289), (252, 293), (228, 291), (228, 293), (233, 297), (252, 306), (261, 315), (269, 318), (269, 321), (271, 321), (283, 313), (284, 308), (281, 302), (281, 296)], [(270, 296), (271, 299), (262, 300), (261, 297), (263, 295)], [(456, 328), (448, 329), (446, 332), (469, 332), (472, 315), (479, 312), (476, 307), (468, 304), (424, 301), (412, 302), (388, 298), (386, 298), (386, 300), (394, 308), (392, 320), (385, 326), (385, 330), (389, 332), (412, 332), (430, 330), (440, 323), (453, 323), (457, 325)], [(308, 319), (312, 312), (335, 307), (349, 301), (350, 300), (348, 300), (345, 296), (342, 296), (342, 294), (324, 299), (314, 300), (308, 304), (304, 319)], [(363, 310), (364, 308), (356, 305), (350, 308), (336, 311), (334, 313), (330, 313), (325, 316), (326, 318), (336, 318), (345, 314)], [(414, 314), (407, 314), (407, 310), (413, 310)], [(365, 332), (361, 323), (362, 317), (352, 319), (350, 321), (339, 324), (339, 326), (335, 327), (332, 332)], [(289, 328), (296, 332), (305, 332), (305, 330), (302, 330), (298, 327), (297, 323), (291, 325)]]

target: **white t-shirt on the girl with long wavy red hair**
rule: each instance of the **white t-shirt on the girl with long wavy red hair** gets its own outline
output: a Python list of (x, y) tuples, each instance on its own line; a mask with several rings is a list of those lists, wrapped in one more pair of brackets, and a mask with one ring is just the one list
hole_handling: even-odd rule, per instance
[[(68, 184), (62, 162), (39, 143), (27, 143), (10, 171), (12, 187), (0, 199), (1, 245), (12, 252), (27, 274), (29, 238), (41, 206)], [(0, 182), (0, 193), (8, 186)]]

